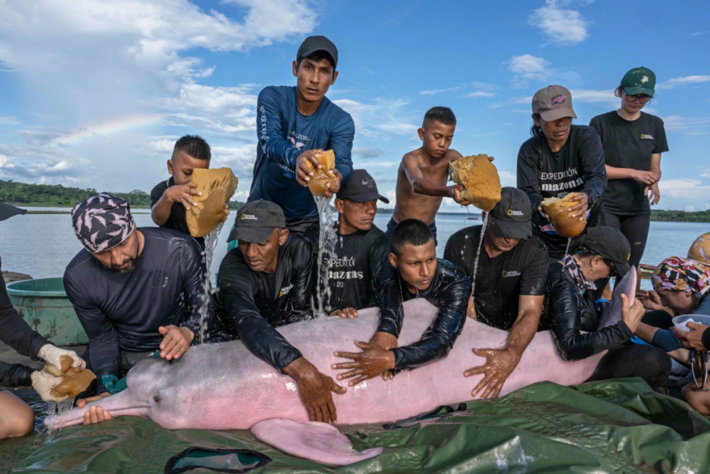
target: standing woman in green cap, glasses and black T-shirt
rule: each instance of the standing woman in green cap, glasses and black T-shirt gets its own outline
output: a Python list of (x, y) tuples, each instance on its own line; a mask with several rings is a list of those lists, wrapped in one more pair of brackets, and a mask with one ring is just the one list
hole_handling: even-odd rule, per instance
[(604, 190), (604, 225), (626, 236), (631, 245), (629, 263), (635, 268), (646, 247), (650, 204), (658, 204), (661, 197), (661, 153), (668, 151), (663, 121), (641, 111), (654, 96), (655, 85), (652, 70), (635, 67), (616, 88), (621, 107), (589, 123), (601, 137), (609, 179)]

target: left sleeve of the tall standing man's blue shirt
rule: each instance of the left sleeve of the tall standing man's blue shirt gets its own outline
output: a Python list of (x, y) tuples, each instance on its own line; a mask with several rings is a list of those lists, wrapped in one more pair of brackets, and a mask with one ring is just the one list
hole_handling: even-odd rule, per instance
[(302, 150), (298, 150), (288, 138), (285, 138), (281, 128), (282, 102), (273, 87), (265, 87), (259, 93), (256, 101), (256, 135), (261, 149), (270, 160), (294, 170), (296, 158)]

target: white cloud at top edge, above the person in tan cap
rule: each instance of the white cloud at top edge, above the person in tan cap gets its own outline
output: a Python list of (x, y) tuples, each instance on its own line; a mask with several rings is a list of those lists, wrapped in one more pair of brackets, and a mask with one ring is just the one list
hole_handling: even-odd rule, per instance
[(532, 12), (529, 23), (540, 28), (550, 43), (576, 45), (589, 37), (586, 29), (590, 22), (577, 10), (560, 8), (565, 3), (569, 2), (546, 0), (545, 6)]

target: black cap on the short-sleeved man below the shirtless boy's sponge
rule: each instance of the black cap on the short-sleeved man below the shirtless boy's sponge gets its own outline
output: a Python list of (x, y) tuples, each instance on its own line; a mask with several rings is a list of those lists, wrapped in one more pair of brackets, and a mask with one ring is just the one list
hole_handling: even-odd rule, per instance
[(501, 189), (501, 200), (488, 213), (488, 224), (498, 236), (530, 238), (532, 236), (532, 206), (528, 195), (516, 187)]

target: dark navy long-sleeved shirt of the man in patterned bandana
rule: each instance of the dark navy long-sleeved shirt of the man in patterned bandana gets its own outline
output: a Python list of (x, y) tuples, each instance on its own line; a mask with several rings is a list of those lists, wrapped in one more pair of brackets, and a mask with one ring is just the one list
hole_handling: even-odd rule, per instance
[(89, 336), (87, 366), (97, 375), (122, 375), (122, 352), (157, 351), (160, 326), (200, 330), (204, 260), (195, 239), (166, 228), (143, 227), (145, 245), (131, 272), (106, 268), (83, 249), (67, 265), (64, 287)]

